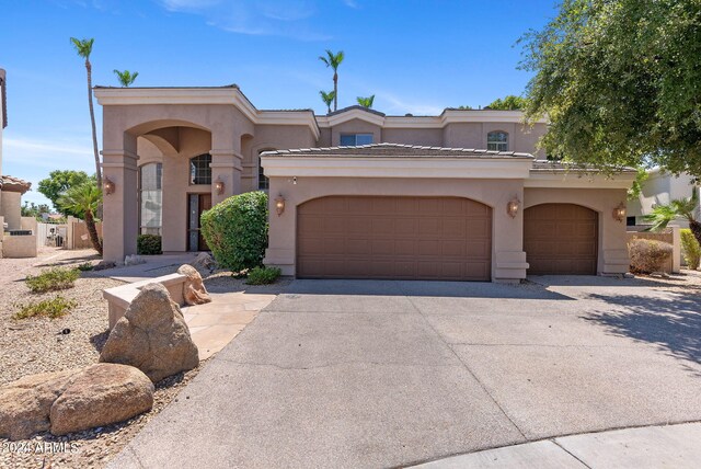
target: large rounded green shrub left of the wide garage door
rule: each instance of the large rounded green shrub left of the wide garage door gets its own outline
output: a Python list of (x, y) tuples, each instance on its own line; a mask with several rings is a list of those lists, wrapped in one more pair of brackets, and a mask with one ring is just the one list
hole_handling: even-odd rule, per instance
[(202, 233), (222, 268), (232, 272), (262, 265), (267, 248), (267, 195), (234, 195), (202, 214)]

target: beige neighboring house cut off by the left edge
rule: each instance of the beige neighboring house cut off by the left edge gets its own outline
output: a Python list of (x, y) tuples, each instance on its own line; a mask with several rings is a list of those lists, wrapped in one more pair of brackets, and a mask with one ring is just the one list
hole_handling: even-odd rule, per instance
[[(0, 174), (2, 174), (2, 131), (8, 126), (7, 73), (0, 68)], [(9, 175), (0, 175), (0, 229), (19, 230), (21, 225), (21, 198), (31, 183)], [(0, 236), (0, 241), (2, 237)]]

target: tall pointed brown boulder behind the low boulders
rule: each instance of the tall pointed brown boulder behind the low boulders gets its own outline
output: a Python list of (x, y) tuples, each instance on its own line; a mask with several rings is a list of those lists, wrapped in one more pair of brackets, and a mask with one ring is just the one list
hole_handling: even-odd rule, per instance
[(199, 364), (180, 306), (161, 284), (148, 284), (134, 298), (100, 354), (100, 362), (139, 368), (157, 382)]

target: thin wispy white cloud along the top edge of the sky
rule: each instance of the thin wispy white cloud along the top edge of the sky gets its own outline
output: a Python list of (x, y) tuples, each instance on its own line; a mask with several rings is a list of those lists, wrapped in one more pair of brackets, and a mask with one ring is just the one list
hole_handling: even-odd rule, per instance
[(168, 11), (198, 14), (206, 24), (253, 36), (285, 36), (299, 41), (327, 41), (310, 30), (306, 20), (317, 12), (311, 0), (158, 0)]

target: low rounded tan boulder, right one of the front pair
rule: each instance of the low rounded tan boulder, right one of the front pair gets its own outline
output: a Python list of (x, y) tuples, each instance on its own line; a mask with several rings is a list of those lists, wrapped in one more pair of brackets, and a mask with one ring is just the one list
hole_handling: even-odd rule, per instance
[(89, 366), (51, 405), (51, 433), (65, 435), (147, 412), (153, 407), (153, 389), (148, 376), (133, 366)]

